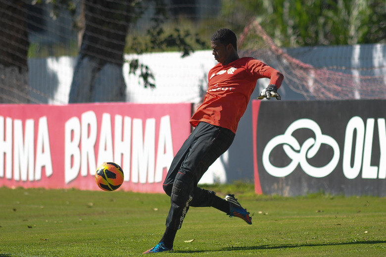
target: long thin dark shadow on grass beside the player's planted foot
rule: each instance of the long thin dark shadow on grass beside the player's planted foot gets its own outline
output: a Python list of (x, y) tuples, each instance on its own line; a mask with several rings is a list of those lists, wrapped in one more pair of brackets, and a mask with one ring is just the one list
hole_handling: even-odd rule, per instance
[[(344, 242), (344, 243), (326, 243), (326, 244), (297, 244), (297, 245), (260, 245), (260, 246), (236, 246), (236, 247), (224, 247), (218, 250), (177, 250), (172, 253), (203, 253), (203, 252), (221, 252), (221, 251), (245, 251), (245, 250), (269, 250), (269, 249), (289, 249), (297, 247), (313, 247), (313, 246), (340, 246), (340, 245), (360, 245), (360, 244), (385, 244), (386, 240), (379, 241), (356, 241), (356, 242)], [(0, 256), (1, 257), (1, 256)]]

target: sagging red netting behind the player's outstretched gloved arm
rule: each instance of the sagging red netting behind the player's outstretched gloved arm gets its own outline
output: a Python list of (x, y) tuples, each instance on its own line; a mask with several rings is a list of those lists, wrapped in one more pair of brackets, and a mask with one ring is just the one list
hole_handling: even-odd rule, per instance
[[(279, 48), (256, 20), (244, 28), (239, 46), (245, 49), (245, 55), (266, 62), (270, 60), (269, 63), (274, 58), (286, 83), (306, 99), (386, 99), (385, 66), (362, 68), (372, 75), (361, 75), (361, 68), (357, 67), (314, 67)], [(372, 69), (380, 75), (374, 75), (377, 72)]]

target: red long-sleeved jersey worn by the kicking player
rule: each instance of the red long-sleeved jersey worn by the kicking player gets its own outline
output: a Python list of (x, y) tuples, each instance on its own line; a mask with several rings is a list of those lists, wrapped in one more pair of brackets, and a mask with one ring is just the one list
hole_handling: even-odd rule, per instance
[(259, 78), (270, 78), (270, 84), (281, 86), (278, 71), (252, 57), (218, 63), (208, 73), (208, 90), (190, 120), (192, 126), (204, 121), (236, 133)]

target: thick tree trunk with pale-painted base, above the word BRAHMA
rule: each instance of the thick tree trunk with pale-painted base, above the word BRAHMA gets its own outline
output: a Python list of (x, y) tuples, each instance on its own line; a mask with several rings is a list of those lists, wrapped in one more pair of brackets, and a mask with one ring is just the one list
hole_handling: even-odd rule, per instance
[(85, 30), (69, 103), (123, 102), (123, 53), (131, 1), (84, 0)]

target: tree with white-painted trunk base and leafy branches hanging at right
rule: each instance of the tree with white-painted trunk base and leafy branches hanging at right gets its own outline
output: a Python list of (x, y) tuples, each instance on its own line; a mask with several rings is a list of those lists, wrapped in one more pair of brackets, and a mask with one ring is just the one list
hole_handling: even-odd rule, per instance
[[(146, 5), (145, 5), (146, 3)], [(152, 6), (154, 14), (152, 26), (146, 31), (150, 42), (138, 48), (141, 53), (146, 49), (162, 49), (164, 46), (177, 46), (183, 56), (193, 51), (185, 37), (189, 32), (165, 35), (161, 24), (167, 18), (162, 0), (147, 1), (110, 1), (83, 0), (85, 29), (82, 46), (75, 67), (69, 103), (85, 102), (124, 102), (126, 84), (122, 75), (125, 39), (130, 25), (144, 13), (145, 7)], [(196, 35), (197, 36), (197, 35)], [(202, 42), (198, 42), (203, 44)], [(134, 43), (133, 48), (137, 47)], [(140, 70), (145, 87), (154, 87), (150, 82), (152, 73), (138, 59), (131, 60), (130, 70)]]

